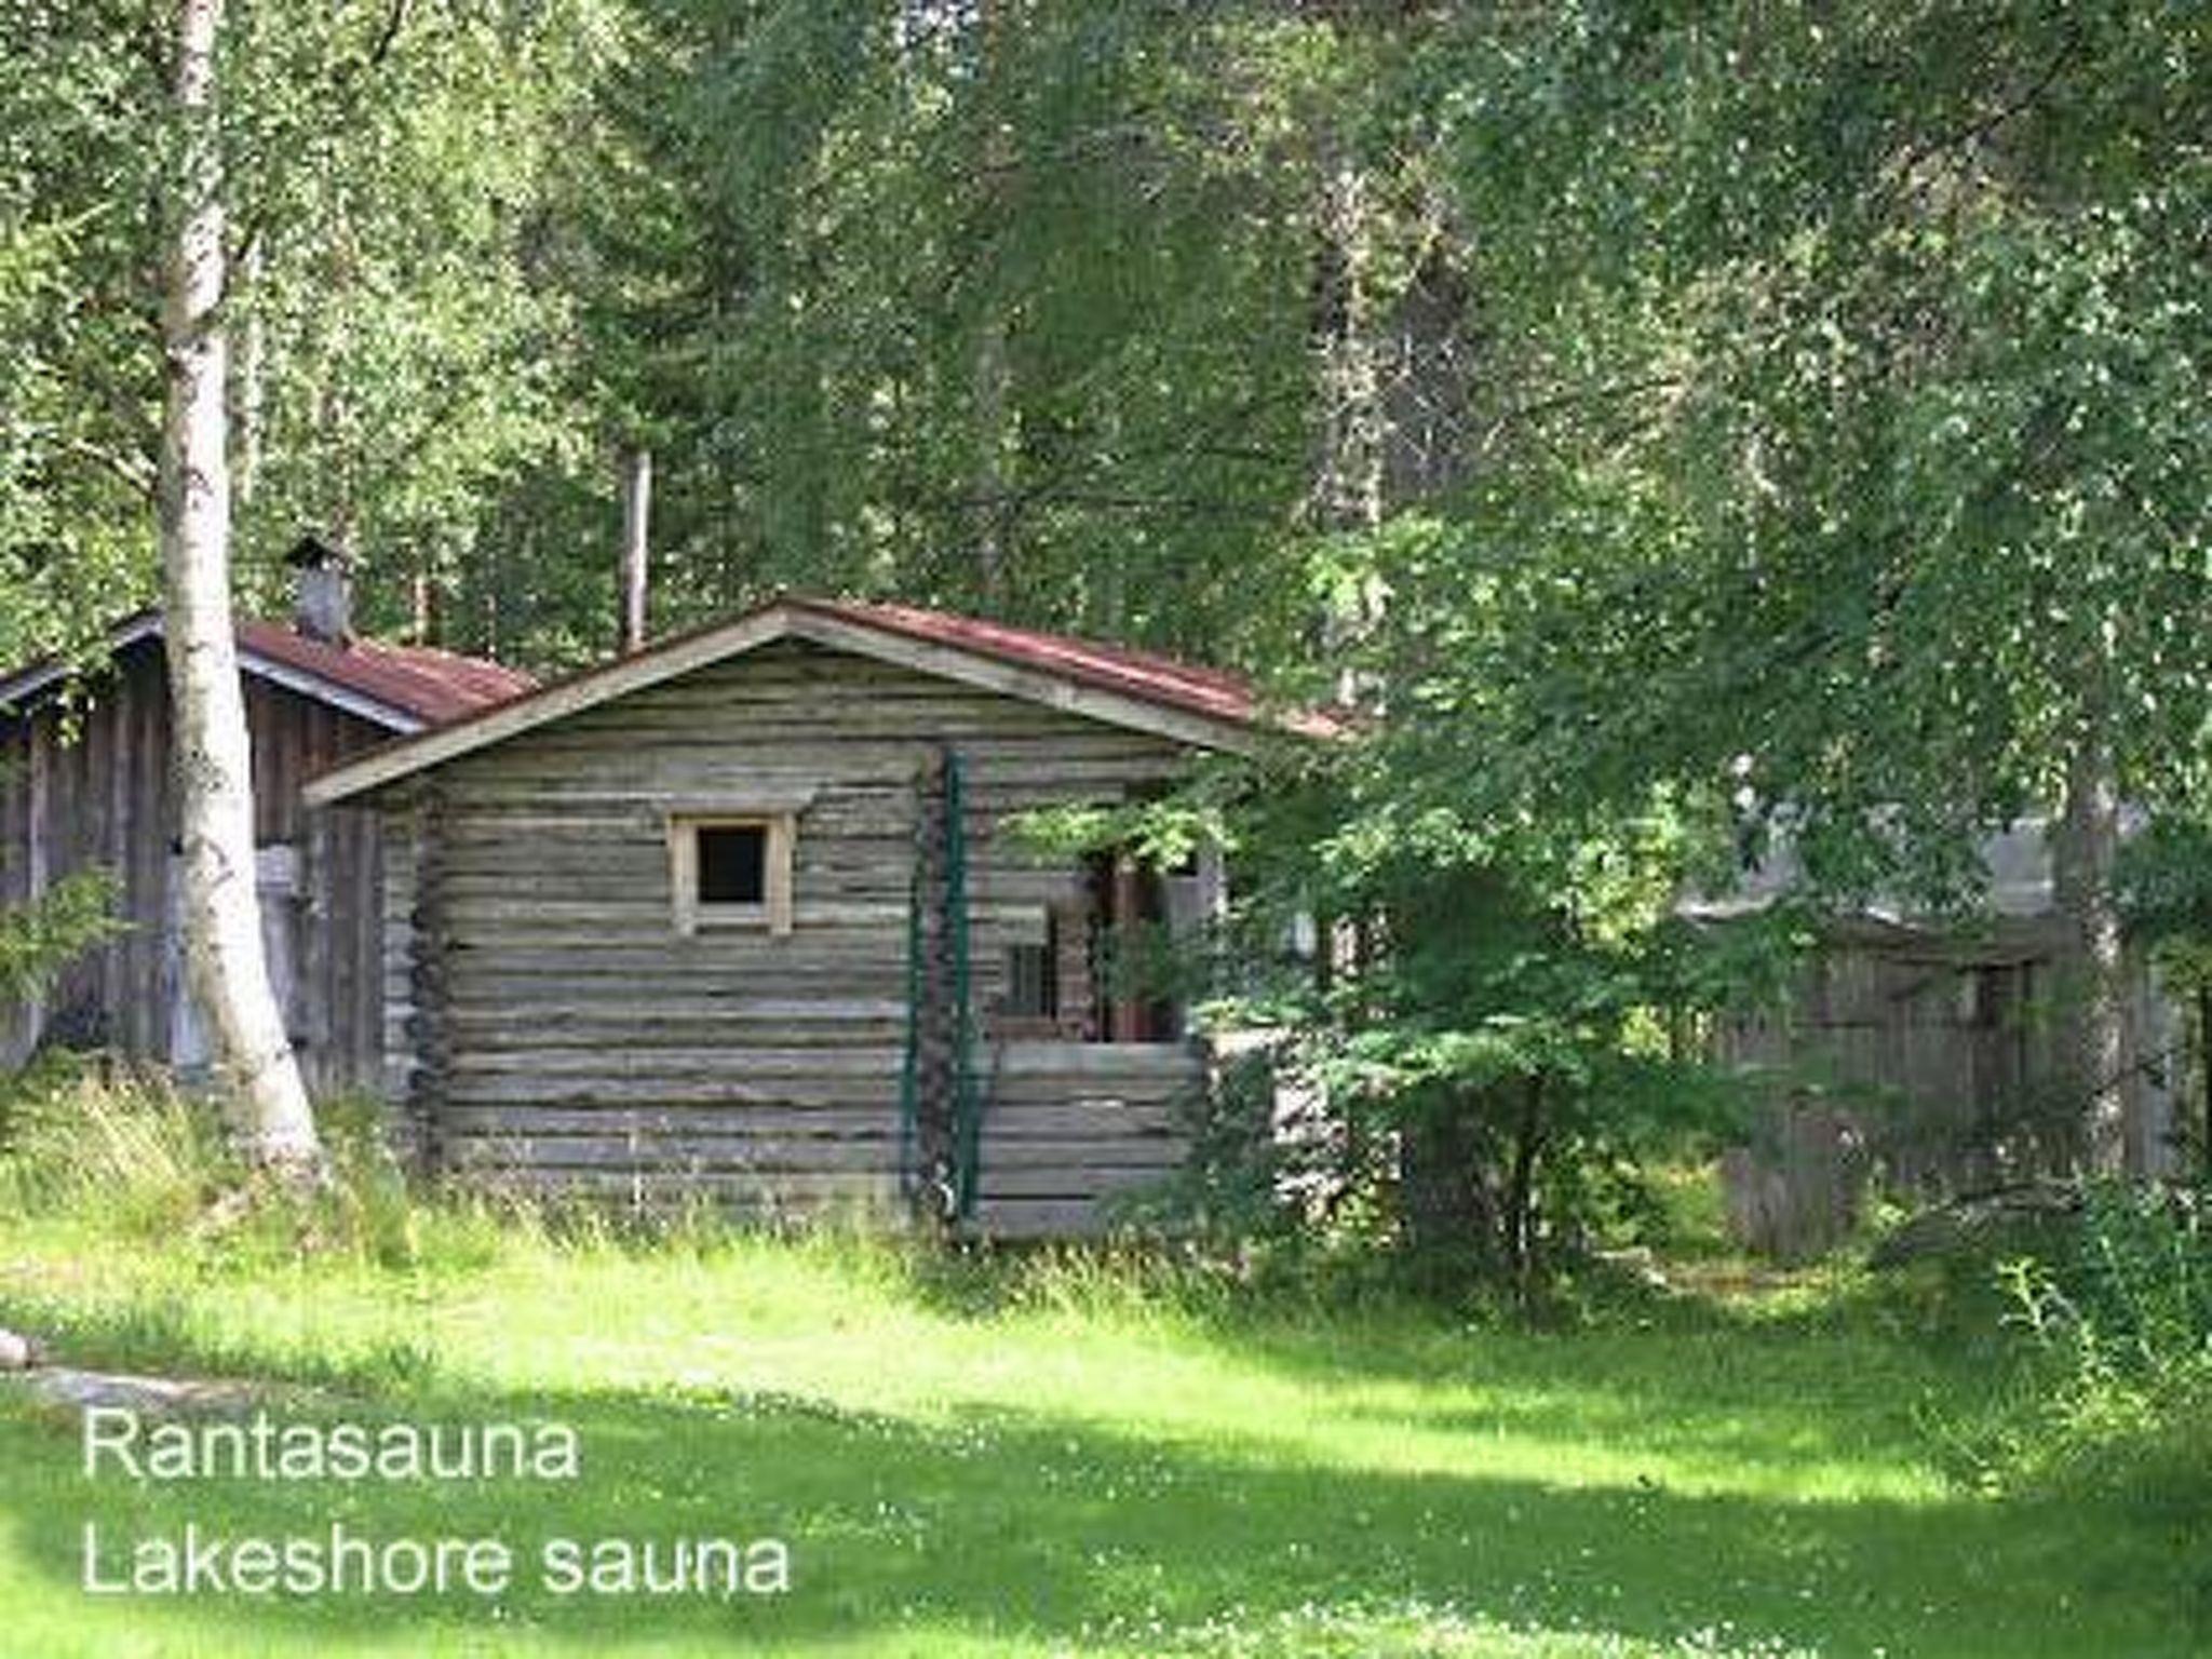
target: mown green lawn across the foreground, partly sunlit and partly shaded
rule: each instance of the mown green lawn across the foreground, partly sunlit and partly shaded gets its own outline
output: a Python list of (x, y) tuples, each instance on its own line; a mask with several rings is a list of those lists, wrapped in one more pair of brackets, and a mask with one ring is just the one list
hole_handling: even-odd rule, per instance
[[(568, 1422), (575, 1482), (133, 1482), (0, 1391), (0, 1652), (2185, 1655), (2208, 1540), (1971, 1495), (1993, 1387), (1823, 1307), (1568, 1332), (1239, 1312), (1104, 1270), (522, 1232), (436, 1270), (0, 1232), (0, 1323), (288, 1380), (279, 1413)], [(113, 1537), (787, 1540), (781, 1597), (88, 1597)]]

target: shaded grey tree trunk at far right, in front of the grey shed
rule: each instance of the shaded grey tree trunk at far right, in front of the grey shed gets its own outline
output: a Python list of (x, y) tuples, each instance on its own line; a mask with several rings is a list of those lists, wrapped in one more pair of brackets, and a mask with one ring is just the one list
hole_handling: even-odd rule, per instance
[(2068, 1073), (2081, 1108), (2081, 1155), (2104, 1175), (2141, 1172), (2132, 1097), (2132, 998), (2121, 936), (2119, 779), (2099, 708), (2084, 714), (2066, 765), (2066, 807), (2051, 841), (2053, 898), (2070, 929), (2073, 984), (2066, 995)]

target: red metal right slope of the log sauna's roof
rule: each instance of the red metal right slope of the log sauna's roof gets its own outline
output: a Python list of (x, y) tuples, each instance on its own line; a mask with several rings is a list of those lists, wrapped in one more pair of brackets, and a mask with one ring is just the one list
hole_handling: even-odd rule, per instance
[(1252, 681), (1223, 668), (1201, 668), (1197, 664), (1161, 657), (1130, 646), (1106, 646), (1093, 639), (1077, 639), (1060, 633), (1037, 633), (1033, 628), (1011, 628), (1002, 622), (962, 617), (951, 611), (920, 611), (905, 604), (860, 604), (856, 599), (785, 599), (796, 611), (814, 611), (867, 628), (958, 646), (1000, 661), (1024, 668), (1042, 668), (1066, 679), (1115, 690), (1126, 697), (1141, 697), (1168, 708), (1186, 708), (1194, 714), (1254, 726), (1274, 719), (1294, 732), (1310, 737), (1334, 737), (1340, 721), (1323, 710), (1265, 710)]

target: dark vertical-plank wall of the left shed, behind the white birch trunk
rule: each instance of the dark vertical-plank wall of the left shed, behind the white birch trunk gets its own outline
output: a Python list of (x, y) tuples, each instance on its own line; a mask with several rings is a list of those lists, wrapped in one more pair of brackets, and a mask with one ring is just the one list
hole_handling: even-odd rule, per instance
[[(383, 1064), (380, 825), (363, 810), (307, 812), (299, 785), (387, 732), (259, 679), (246, 684), (246, 708), (254, 838), (294, 847), (301, 872), (279, 922), (299, 964), (292, 1031), (312, 1086), (374, 1086)], [(71, 703), (49, 699), (0, 721), (0, 902), (104, 867), (128, 922), (38, 1004), (0, 1011), (0, 1060), (22, 1060), (42, 1040), (175, 1057), (175, 834), (159, 641), (128, 646)]]

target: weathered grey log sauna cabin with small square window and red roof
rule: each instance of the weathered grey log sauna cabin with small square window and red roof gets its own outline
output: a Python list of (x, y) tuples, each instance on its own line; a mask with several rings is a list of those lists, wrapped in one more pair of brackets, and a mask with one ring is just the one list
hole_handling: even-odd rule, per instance
[(781, 599), (307, 787), (385, 818), (387, 1093), (434, 1170), (783, 1212), (1099, 1228), (1208, 1057), (1110, 980), (1219, 858), (1046, 858), (1279, 726), (1239, 679), (900, 606)]

